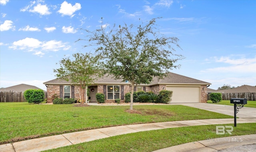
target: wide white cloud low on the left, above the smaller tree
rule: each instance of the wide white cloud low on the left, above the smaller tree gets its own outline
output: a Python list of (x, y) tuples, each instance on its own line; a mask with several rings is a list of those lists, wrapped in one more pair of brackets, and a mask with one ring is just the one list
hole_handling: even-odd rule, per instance
[(67, 43), (62, 41), (50, 40), (50, 41), (39, 41), (38, 39), (28, 38), (15, 41), (12, 43), (10, 49), (19, 49), (26, 50), (29, 52), (34, 52), (34, 55), (42, 56), (46, 51), (59, 51), (59, 50), (68, 50), (71, 48)]

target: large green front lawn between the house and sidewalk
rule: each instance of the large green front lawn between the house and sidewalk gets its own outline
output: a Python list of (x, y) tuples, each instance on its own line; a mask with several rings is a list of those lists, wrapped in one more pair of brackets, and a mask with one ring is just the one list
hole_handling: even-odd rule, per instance
[(118, 125), (233, 118), (182, 105), (134, 105), (141, 114), (127, 113), (127, 109), (129, 106), (0, 103), (0, 144)]

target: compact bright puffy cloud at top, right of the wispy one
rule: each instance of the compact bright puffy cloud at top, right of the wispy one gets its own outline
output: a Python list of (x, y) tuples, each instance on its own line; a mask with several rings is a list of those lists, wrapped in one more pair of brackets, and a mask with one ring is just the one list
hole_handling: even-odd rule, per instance
[(72, 6), (72, 4), (64, 1), (61, 6), (60, 6), (60, 10), (58, 10), (58, 12), (60, 14), (62, 14), (62, 16), (74, 16), (74, 12), (76, 12), (77, 10), (81, 9), (81, 4), (80, 3), (76, 3), (75, 5)]

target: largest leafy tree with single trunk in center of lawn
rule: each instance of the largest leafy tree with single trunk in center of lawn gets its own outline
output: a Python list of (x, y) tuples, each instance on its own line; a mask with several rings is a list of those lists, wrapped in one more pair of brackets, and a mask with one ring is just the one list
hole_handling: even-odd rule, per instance
[(149, 84), (154, 76), (163, 78), (182, 55), (173, 52), (180, 48), (178, 38), (166, 37), (156, 28), (156, 19), (144, 25), (114, 25), (111, 29), (101, 26), (89, 31), (88, 41), (84, 47), (97, 46), (96, 53), (104, 58), (106, 72), (116, 79), (129, 81), (132, 85), (130, 109), (133, 107), (133, 88), (138, 84)]

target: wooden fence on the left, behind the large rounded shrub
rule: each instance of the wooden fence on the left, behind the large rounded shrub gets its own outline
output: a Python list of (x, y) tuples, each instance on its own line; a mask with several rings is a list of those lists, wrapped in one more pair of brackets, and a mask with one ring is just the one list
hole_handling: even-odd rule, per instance
[[(44, 99), (47, 98), (47, 93), (44, 92)], [(0, 102), (28, 102), (26, 101), (23, 92), (0, 92)]]

